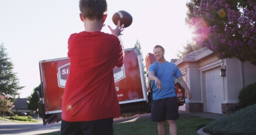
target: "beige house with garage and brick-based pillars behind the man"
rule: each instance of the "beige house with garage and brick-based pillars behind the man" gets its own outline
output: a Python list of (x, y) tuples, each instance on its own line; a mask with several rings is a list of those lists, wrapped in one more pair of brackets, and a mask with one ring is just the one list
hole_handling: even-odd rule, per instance
[[(237, 58), (220, 60), (206, 48), (187, 54), (175, 64), (192, 92), (189, 105), (179, 108), (186, 112), (233, 113), (241, 89), (256, 82), (255, 65)], [(222, 76), (220, 71), (224, 71)]]

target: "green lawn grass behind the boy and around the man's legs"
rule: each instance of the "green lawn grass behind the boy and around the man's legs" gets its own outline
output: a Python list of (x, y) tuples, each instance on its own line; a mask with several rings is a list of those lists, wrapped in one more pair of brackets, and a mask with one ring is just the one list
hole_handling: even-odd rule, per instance
[[(197, 135), (197, 130), (201, 127), (206, 126), (207, 123), (210, 123), (214, 119), (203, 119), (199, 116), (183, 116), (180, 117), (176, 122), (178, 124), (178, 134), (179, 135)], [(135, 122), (126, 122), (126, 123), (115, 123), (114, 126), (114, 135), (137, 135), (137, 134), (158, 134), (158, 123), (151, 122), (151, 120), (138, 120)], [(166, 133), (169, 133), (169, 126), (166, 122)], [(57, 135), (60, 134), (60, 131), (53, 133), (46, 133), (40, 135)]]

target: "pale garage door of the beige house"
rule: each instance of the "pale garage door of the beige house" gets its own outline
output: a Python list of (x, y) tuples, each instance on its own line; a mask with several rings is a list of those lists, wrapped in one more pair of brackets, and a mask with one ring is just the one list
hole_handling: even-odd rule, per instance
[(219, 77), (219, 68), (206, 71), (205, 78), (207, 112), (221, 114), (221, 103), (224, 101), (224, 91), (223, 77)]

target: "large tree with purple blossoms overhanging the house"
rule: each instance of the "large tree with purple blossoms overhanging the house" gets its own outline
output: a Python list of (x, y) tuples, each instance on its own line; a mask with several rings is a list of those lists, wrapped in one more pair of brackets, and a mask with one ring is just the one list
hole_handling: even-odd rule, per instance
[(256, 65), (256, 1), (190, 0), (186, 22), (200, 47)]

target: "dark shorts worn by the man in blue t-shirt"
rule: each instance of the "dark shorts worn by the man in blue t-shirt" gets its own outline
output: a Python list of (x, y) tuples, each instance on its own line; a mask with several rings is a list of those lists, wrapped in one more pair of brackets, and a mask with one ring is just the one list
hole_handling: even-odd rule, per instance
[(177, 96), (152, 101), (151, 121), (163, 122), (179, 119)]

